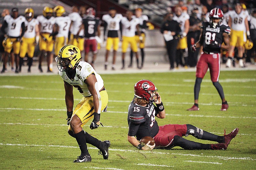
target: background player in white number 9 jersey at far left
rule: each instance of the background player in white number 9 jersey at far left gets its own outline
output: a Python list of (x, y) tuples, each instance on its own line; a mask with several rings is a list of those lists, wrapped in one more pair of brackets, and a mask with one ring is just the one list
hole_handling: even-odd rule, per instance
[[(25, 33), (25, 17), (18, 17), (18, 8), (12, 8), (12, 15), (6, 15), (4, 17), (4, 24), (1, 27), (1, 32), (7, 34), (7, 39), (4, 44), (4, 56), (3, 56), (3, 70), (1, 73), (6, 71), (6, 63), (8, 61), (8, 55), (11, 53), (13, 49), (16, 69), (15, 73), (19, 73), (19, 65), (20, 65), (20, 41), (22, 36)], [(7, 33), (5, 32), (5, 28), (7, 28)], [(9, 44), (9, 45), (8, 45)]]

